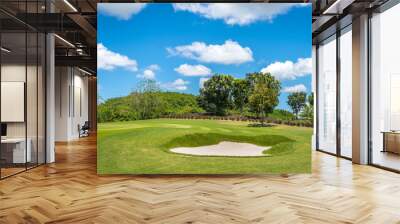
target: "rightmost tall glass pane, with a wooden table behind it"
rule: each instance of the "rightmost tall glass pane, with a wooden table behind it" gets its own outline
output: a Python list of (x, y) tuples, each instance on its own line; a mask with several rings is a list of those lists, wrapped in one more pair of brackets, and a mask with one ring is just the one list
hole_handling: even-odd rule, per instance
[(371, 162), (400, 170), (400, 4), (371, 18)]

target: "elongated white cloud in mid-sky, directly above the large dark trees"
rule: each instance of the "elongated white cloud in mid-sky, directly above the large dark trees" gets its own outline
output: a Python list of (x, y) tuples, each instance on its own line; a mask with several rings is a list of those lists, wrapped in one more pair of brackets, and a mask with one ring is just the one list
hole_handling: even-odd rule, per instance
[(190, 45), (167, 48), (171, 55), (179, 55), (197, 61), (217, 64), (242, 64), (253, 61), (253, 52), (249, 47), (242, 47), (233, 40), (226, 40), (224, 44), (210, 44), (193, 42)]

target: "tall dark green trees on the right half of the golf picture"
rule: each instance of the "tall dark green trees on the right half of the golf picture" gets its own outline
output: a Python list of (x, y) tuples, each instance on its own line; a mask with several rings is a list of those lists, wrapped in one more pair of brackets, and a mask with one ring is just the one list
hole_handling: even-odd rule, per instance
[[(280, 91), (280, 81), (270, 73), (250, 73), (243, 79), (214, 75), (200, 90), (199, 105), (219, 116), (226, 115), (232, 109), (244, 115), (253, 113), (263, 123), (279, 104)], [(296, 119), (312, 119), (312, 95), (307, 96), (305, 92), (290, 93), (287, 103)]]

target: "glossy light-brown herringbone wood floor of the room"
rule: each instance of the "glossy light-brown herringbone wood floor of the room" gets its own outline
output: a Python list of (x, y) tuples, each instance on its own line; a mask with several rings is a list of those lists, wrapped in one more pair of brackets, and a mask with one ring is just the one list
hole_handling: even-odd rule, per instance
[(0, 181), (0, 223), (400, 223), (400, 175), (313, 153), (312, 175), (97, 176), (96, 141)]

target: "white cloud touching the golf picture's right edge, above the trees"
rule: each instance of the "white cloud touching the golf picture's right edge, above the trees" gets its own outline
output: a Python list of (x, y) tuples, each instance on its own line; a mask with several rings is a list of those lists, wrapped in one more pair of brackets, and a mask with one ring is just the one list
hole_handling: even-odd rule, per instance
[(299, 58), (297, 62), (285, 61), (274, 62), (267, 67), (263, 68), (261, 72), (269, 72), (279, 80), (296, 79), (311, 74), (312, 72), (312, 59)]

